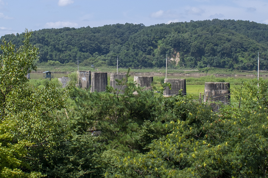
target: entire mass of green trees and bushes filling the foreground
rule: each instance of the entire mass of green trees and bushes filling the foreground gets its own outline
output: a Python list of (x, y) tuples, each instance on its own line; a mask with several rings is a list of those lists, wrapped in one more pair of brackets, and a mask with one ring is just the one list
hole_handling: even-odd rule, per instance
[(125, 79), (123, 94), (76, 88), (75, 74), (61, 88), (57, 79), (25, 77), (38, 58), (30, 35), (19, 48), (0, 45), (0, 177), (268, 175), (267, 81), (237, 86), (218, 112)]

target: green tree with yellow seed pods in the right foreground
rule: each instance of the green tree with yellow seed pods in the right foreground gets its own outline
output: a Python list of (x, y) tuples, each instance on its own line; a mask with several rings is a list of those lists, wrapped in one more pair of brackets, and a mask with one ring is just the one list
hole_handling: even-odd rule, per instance
[(266, 177), (267, 83), (259, 81), (259, 89), (253, 83), (235, 92), (248, 101), (222, 106), (221, 113), (185, 97), (164, 98), (158, 119), (166, 119), (158, 121), (167, 134), (148, 152), (119, 158), (121, 172), (107, 177)]

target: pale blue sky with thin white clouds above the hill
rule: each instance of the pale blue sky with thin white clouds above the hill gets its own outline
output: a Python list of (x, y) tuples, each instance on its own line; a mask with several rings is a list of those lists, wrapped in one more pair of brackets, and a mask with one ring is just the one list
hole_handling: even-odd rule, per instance
[(268, 24), (267, 0), (0, 0), (0, 36), (116, 23), (234, 19)]

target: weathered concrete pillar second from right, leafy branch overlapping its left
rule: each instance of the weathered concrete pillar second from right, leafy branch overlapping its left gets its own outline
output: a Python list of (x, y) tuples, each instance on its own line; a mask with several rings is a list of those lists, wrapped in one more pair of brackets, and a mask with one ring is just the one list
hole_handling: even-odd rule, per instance
[(167, 82), (171, 84), (171, 90), (169, 90), (169, 87), (166, 87), (163, 92), (164, 96), (177, 95), (181, 89), (183, 95), (186, 95), (186, 79), (164, 79), (164, 83)]

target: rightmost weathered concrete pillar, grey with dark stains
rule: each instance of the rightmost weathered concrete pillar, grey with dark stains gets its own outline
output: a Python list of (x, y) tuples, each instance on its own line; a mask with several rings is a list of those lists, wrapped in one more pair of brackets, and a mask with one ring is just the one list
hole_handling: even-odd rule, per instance
[[(223, 104), (230, 102), (230, 83), (227, 82), (205, 82), (204, 102), (220, 101)], [(211, 104), (214, 110), (218, 110), (219, 106)]]

